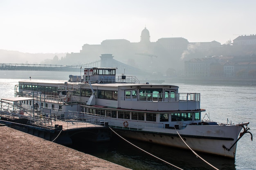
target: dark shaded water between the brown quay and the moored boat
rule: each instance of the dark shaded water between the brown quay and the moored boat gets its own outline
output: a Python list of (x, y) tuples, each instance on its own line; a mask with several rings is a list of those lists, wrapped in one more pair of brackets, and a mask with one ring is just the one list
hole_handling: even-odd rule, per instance
[[(182, 150), (167, 146), (145, 143), (128, 139), (132, 144), (147, 152), (185, 170), (212, 170), (200, 158), (197, 158), (190, 150)], [(117, 163), (133, 170), (176, 170), (177, 168), (159, 160), (138, 148), (128, 144), (123, 139), (113, 135), (109, 142), (93, 143), (74, 141), (70, 146), (81, 152)], [(235, 170), (234, 159), (199, 153), (201, 157), (221, 170)]]

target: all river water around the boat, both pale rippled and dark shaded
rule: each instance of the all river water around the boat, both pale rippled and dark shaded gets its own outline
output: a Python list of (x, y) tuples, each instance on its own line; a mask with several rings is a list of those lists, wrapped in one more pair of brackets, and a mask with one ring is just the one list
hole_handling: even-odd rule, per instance
[[(19, 77), (18, 77), (19, 78)], [(19, 79), (0, 79), (0, 99), (14, 97), (14, 88)], [(167, 83), (166, 83), (167, 84)], [(170, 83), (171, 84), (171, 83)], [(256, 135), (256, 86), (224, 86), (172, 84), (179, 86), (180, 93), (200, 93), (201, 108), (212, 121), (232, 123), (249, 121), (249, 130)], [(204, 113), (202, 113), (202, 116)], [(197, 158), (189, 150), (180, 150), (154, 144), (132, 141), (136, 146), (150, 152), (184, 170), (212, 170), (209, 165)], [(173, 166), (152, 157), (126, 141), (113, 135), (110, 142), (105, 143), (75, 143), (72, 148), (106, 159), (133, 170), (175, 170)], [(221, 170), (256, 170), (256, 142), (251, 141), (249, 133), (245, 134), (237, 145), (236, 159), (226, 159), (198, 153), (206, 161)]]

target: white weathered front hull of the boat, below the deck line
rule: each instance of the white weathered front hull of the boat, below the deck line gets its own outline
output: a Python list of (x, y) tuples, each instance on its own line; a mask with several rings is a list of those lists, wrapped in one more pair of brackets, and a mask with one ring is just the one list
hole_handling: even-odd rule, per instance
[[(199, 127), (199, 126), (198, 126)], [(224, 127), (224, 126), (223, 126)], [(203, 128), (203, 127), (202, 127)], [(204, 126), (207, 128), (207, 126)], [(212, 127), (211, 127), (212, 128)], [(217, 127), (216, 127), (217, 128)], [(233, 131), (239, 131), (242, 127), (239, 126), (230, 126), (233, 128)], [(182, 130), (177, 130), (182, 133)], [(224, 130), (225, 131), (225, 130)], [(198, 152), (204, 152), (214, 155), (220, 155), (224, 157), (229, 157), (234, 159), (236, 155), (236, 144), (234, 144), (237, 140), (239, 132), (236, 134), (230, 134), (227, 137), (214, 137), (207, 135), (181, 135), (182, 139), (186, 142), (188, 146), (182, 141), (180, 136), (176, 133), (163, 133), (163, 132), (149, 132), (145, 130), (132, 130), (125, 128), (115, 128), (115, 132), (125, 138), (136, 139), (140, 141), (146, 141), (149, 143), (160, 144), (164, 146), (171, 146), (175, 148), (189, 149), (188, 146)], [(223, 148), (230, 148), (232, 145), (234, 146), (227, 150)]]

